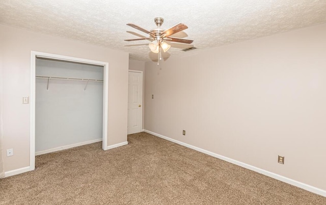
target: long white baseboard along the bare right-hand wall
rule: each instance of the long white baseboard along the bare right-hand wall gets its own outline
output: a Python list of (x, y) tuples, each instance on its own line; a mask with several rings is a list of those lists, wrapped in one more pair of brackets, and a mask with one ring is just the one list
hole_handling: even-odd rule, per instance
[(175, 140), (175, 139), (172, 139), (172, 138), (169, 138), (169, 137), (166, 137), (166, 136), (163, 136), (163, 135), (160, 135), (160, 134), (157, 134), (157, 133), (154, 133), (154, 132), (151, 132), (151, 131), (148, 131), (148, 130), (145, 130), (144, 132), (146, 133), (149, 133), (151, 135), (154, 135), (156, 137), (159, 137), (159, 138), (162, 138), (162, 139), (165, 139), (165, 140), (168, 140), (168, 141), (171, 141), (171, 142), (174, 142), (176, 144), (180, 144), (182, 146), (185, 146), (185, 147), (188, 147), (188, 148), (191, 148), (191, 149), (195, 149), (196, 151), (199, 151), (199, 152), (202, 152), (202, 153), (205, 153), (206, 155), (210, 155), (212, 157), (215, 157), (215, 158), (219, 158), (221, 160), (224, 160), (224, 161), (227, 161), (227, 162), (230, 162), (232, 164), (235, 164), (235, 165), (238, 165), (240, 167), (244, 167), (246, 169), (250, 169), (252, 171), (255, 171), (255, 172), (258, 172), (258, 173), (261, 173), (263, 175), (266, 175), (266, 176), (269, 176), (269, 177), (272, 177), (272, 178), (275, 178), (276, 180), (279, 180), (279, 181), (282, 181), (282, 182), (285, 182), (287, 184), (290, 184), (290, 185), (293, 185), (295, 187), (299, 187), (299, 188), (302, 188), (302, 189), (305, 189), (307, 191), (310, 191), (312, 193), (315, 193), (315, 194), (319, 194), (321, 196), (324, 196), (326, 197), (326, 191), (325, 190), (322, 190), (322, 189), (319, 189), (317, 187), (313, 187), (313, 186), (310, 186), (310, 185), (307, 185), (307, 184), (304, 184), (302, 182), (298, 182), (298, 181), (295, 181), (295, 180), (292, 180), (291, 178), (288, 178), (288, 177), (285, 177), (285, 176), (282, 176), (282, 175), (279, 175), (279, 174), (276, 174), (276, 173), (273, 173), (273, 172), (270, 172), (270, 171), (267, 171), (267, 170), (264, 170), (264, 169), (260, 169), (258, 167), (255, 167), (255, 166), (252, 166), (252, 165), (249, 165), (249, 164), (246, 164), (246, 163), (243, 163), (243, 162), (239, 162), (239, 161), (236, 161), (236, 160), (233, 160), (231, 158), (228, 158), (228, 157), (224, 157), (222, 155), (218, 155), (214, 152), (211, 152), (211, 151), (207, 151), (205, 149), (202, 149), (202, 148), (199, 148), (199, 147), (196, 147), (196, 146), (193, 146), (193, 145), (189, 145), (189, 144), (186, 144), (184, 142), (180, 142), (178, 140)]

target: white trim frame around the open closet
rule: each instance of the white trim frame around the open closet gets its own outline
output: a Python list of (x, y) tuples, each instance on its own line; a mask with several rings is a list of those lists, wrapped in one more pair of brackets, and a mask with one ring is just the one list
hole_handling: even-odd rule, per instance
[(70, 56), (61, 56), (36, 52), (31, 50), (31, 122), (30, 122), (30, 171), (35, 169), (35, 94), (36, 94), (36, 58), (47, 58), (77, 63), (86, 63), (103, 66), (103, 131), (102, 131), (102, 149), (107, 150), (107, 118), (108, 118), (108, 62), (94, 61)]

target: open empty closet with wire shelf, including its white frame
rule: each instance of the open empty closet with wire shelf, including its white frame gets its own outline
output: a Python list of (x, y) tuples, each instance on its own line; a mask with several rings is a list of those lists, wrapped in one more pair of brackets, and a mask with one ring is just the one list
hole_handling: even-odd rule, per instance
[(107, 149), (108, 63), (31, 52), (31, 160), (102, 141)]

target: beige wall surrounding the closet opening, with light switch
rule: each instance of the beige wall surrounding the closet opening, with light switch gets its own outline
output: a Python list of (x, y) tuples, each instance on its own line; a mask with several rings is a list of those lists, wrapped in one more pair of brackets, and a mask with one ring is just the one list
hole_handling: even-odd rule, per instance
[(31, 50), (108, 62), (108, 145), (127, 141), (128, 54), (78, 41), (51, 37), (0, 25), (1, 106), (3, 112), (3, 155), (5, 171), (30, 165)]

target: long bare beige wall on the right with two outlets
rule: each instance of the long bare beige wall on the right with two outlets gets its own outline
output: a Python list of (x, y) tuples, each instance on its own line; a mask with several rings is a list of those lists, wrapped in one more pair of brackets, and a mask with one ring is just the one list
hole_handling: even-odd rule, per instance
[(325, 36), (321, 24), (146, 62), (145, 130), (326, 190)]

